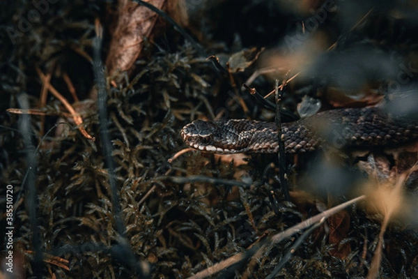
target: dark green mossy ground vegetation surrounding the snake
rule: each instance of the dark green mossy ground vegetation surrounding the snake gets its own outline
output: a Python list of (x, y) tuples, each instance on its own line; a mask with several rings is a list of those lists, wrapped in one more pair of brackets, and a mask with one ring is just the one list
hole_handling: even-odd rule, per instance
[[(15, 199), (15, 269), (27, 278), (33, 277), (33, 272), (47, 278), (53, 275), (56, 278), (135, 278), (132, 259), (137, 265), (148, 263), (151, 278), (186, 278), (318, 212), (313, 202), (315, 197), (302, 199), (299, 205), (295, 205), (295, 200), (286, 202), (284, 197), (271, 197), (272, 188), (278, 187), (274, 175), (269, 174), (265, 179), (270, 183), (260, 181), (268, 163), (277, 163), (274, 155), (254, 156), (248, 165), (239, 166), (199, 152), (186, 153), (173, 163), (167, 162), (185, 147), (179, 131), (194, 119), (205, 116), (213, 119), (223, 112), (224, 118), (274, 121), (274, 112), (262, 108), (246, 92), (240, 91), (240, 84), (259, 66), (255, 63), (229, 75), (206, 60), (212, 54), (228, 58), (244, 49), (265, 47), (263, 59), (277, 54), (291, 56), (304, 43), (304, 39), (294, 37), (302, 32), (301, 23), (313, 17), (323, 5), (329, 5), (331, 8), (323, 22), (310, 33), (308, 29), (305, 32), (307, 38), (320, 33), (324, 45), (338, 44), (329, 52), (325, 48), (320, 55), (312, 57), (303, 77), (286, 87), (284, 107), (295, 112), (304, 96), (321, 99), (323, 107), (332, 107), (335, 103), (364, 105), (352, 102), (360, 91), (379, 91), (382, 95), (389, 95), (391, 90), (415, 92), (417, 73), (408, 75), (408, 82), (395, 85), (393, 82), (398, 79), (399, 65), (418, 69), (415, 1), (196, 0), (186, 3), (189, 25), (185, 29), (198, 40), (205, 53), (197, 52), (169, 24), (157, 25), (160, 28), (157, 35), (146, 41), (130, 77), (119, 86), (108, 86), (109, 135), (125, 239), (131, 255), (125, 252), (123, 238), (116, 232), (98, 108), (94, 102), (86, 103), (93, 90), (94, 75), (91, 62), (84, 54), (92, 56), (94, 20), (100, 19), (104, 26), (104, 61), (116, 2), (56, 1), (49, 4), (38, 20), (17, 34), (10, 34), (10, 28), (21, 30), (20, 22), (28, 18), (33, 2), (0, 2), (0, 212), (5, 209), (5, 186), (11, 184)], [(360, 24), (356, 26), (357, 22)], [(63, 82), (63, 74), (68, 74), (79, 100), (84, 100), (79, 112), (84, 116), (88, 133), (96, 137), (94, 143), (86, 140), (69, 119), (54, 116), (65, 109), (49, 94), (47, 107), (42, 110), (52, 116), (45, 118), (44, 127), (40, 116), (30, 117), (30, 140), (39, 148), (34, 151), (25, 144), (19, 132), (21, 117), (6, 110), (21, 107), (22, 95), (27, 96), (31, 108), (41, 108), (42, 82), (36, 68), (51, 73), (51, 84), (72, 103), (74, 100)], [(274, 79), (283, 80), (295, 73), (263, 75), (251, 86), (268, 93), (274, 88)], [(134, 84), (130, 84), (134, 77)], [(334, 91), (338, 94), (333, 95)], [(243, 109), (240, 98), (247, 110)], [(68, 124), (54, 128), (63, 121)], [(42, 139), (50, 128), (52, 132)], [(35, 152), (37, 161), (31, 183), (36, 186), (34, 221), (39, 230), (40, 249), (45, 253), (41, 263), (34, 262), (33, 257), (33, 212), (29, 210), (29, 182), (25, 179), (28, 152)], [(329, 181), (330, 169), (323, 169), (318, 177), (325, 183)], [(194, 174), (246, 181), (253, 186), (238, 190), (219, 183), (174, 183), (170, 179)], [(321, 183), (318, 177), (314, 179)], [(335, 183), (348, 187), (351, 181), (343, 177), (346, 176), (337, 176)], [(292, 181), (291, 188), (297, 189)], [(416, 189), (410, 186), (412, 192)], [(271, 199), (279, 201), (276, 213)], [(339, 195), (334, 203), (345, 199), (345, 195)], [(326, 229), (320, 229), (302, 243), (277, 278), (366, 276), (382, 216), (367, 213), (362, 206), (351, 207), (347, 213), (349, 229), (342, 243), (330, 243)], [(4, 215), (1, 216), (3, 229), (6, 223)], [(293, 241), (294, 238), (287, 239), (270, 247), (251, 276), (268, 276)], [(350, 247), (343, 257), (330, 253), (343, 243)], [(417, 255), (416, 226), (414, 229), (408, 223), (394, 222), (385, 234), (379, 277), (418, 278)], [(47, 260), (52, 256), (68, 259), (70, 271)], [(246, 266), (246, 263), (234, 266), (222, 276), (239, 277)]]

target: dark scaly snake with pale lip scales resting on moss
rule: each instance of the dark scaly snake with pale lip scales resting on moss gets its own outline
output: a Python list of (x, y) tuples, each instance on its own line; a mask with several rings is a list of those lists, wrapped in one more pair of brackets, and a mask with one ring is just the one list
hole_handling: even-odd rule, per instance
[[(268, 121), (228, 119), (195, 120), (180, 131), (187, 146), (203, 152), (277, 153), (277, 124)], [(418, 140), (418, 124), (380, 107), (344, 108), (318, 112), (281, 124), (286, 153), (306, 153), (334, 146), (396, 146)]]

